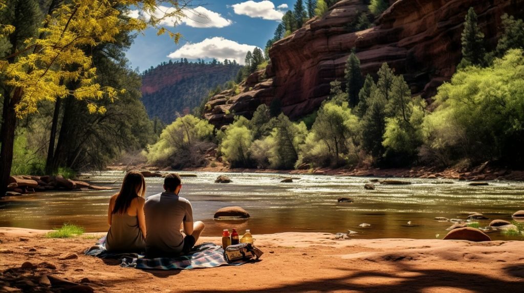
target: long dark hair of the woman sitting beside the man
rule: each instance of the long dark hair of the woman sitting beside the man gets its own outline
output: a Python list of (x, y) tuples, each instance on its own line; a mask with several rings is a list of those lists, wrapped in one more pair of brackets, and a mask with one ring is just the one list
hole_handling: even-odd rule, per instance
[[(140, 191), (137, 193), (137, 186), (140, 187)], [(131, 205), (131, 201), (135, 197), (144, 197), (146, 194), (146, 182), (144, 175), (138, 171), (129, 171), (124, 177), (122, 182), (122, 188), (116, 196), (115, 207), (113, 208), (113, 214), (122, 215), (127, 212), (127, 209)]]

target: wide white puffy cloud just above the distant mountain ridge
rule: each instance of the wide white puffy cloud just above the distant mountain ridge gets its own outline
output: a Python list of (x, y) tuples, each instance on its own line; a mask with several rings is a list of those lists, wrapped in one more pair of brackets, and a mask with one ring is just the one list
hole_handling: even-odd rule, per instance
[(253, 51), (256, 46), (248, 44), (239, 44), (235, 41), (227, 40), (222, 37), (214, 37), (203, 40), (199, 43), (187, 43), (177, 51), (169, 54), (169, 58), (179, 59), (198, 59), (198, 58), (216, 58), (219, 61), (224, 59), (236, 60), (244, 64), (244, 58), (247, 51)]

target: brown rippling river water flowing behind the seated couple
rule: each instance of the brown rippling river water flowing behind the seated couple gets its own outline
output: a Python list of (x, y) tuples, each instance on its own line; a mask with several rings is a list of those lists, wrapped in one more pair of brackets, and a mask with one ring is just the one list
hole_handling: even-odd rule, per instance
[[(193, 206), (193, 217), (206, 225), (205, 236), (220, 236), (223, 229), (241, 233), (286, 231), (358, 232), (354, 238), (442, 238), (451, 224), (434, 217), (465, 219), (478, 212), (490, 219), (511, 221), (511, 214), (524, 209), (524, 182), (490, 182), (468, 186), (467, 182), (428, 179), (409, 180), (411, 185), (380, 185), (365, 190), (372, 178), (293, 175), (293, 183), (280, 183), (286, 175), (228, 173), (233, 181), (214, 183), (220, 173), (196, 172), (183, 177), (181, 196)], [(119, 187), (124, 173), (96, 173), (85, 181)], [(300, 179), (298, 179), (300, 178)], [(116, 181), (115, 183), (112, 183)], [(96, 183), (99, 182), (99, 183)], [(101, 182), (101, 183), (100, 183)], [(110, 182), (110, 183), (108, 183)], [(162, 191), (162, 178), (146, 178), (147, 196)], [(451, 182), (451, 183), (450, 183)], [(442, 184), (435, 184), (442, 183)], [(72, 222), (88, 232), (108, 229), (107, 206), (113, 191), (63, 191), (35, 193), (0, 200), (0, 226), (50, 229)], [(338, 203), (351, 197), (353, 203)], [(215, 211), (241, 206), (251, 218), (245, 221), (213, 220)], [(487, 226), (490, 220), (480, 220)], [(409, 222), (409, 223), (408, 223)], [(367, 228), (358, 225), (366, 223)], [(500, 233), (492, 239), (515, 239)]]

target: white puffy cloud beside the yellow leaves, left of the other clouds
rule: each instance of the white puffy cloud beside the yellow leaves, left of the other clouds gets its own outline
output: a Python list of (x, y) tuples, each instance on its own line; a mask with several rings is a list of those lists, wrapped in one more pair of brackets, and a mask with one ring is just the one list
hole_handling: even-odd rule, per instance
[[(163, 15), (172, 13), (173, 11), (173, 7), (160, 6), (152, 16), (161, 18)], [(233, 24), (232, 20), (222, 17), (220, 13), (216, 13), (202, 6), (184, 9), (183, 13), (185, 16), (181, 18), (167, 17), (162, 19), (160, 25), (173, 27), (175, 25), (185, 24), (193, 28), (223, 28)], [(128, 16), (133, 18), (142, 17), (146, 21), (151, 18), (151, 15), (140, 10), (129, 11)]]

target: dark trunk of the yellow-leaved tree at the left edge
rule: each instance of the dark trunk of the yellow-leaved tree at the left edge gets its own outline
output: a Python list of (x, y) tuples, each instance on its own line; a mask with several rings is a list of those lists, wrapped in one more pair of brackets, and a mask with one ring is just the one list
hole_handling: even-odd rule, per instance
[(11, 174), (11, 167), (13, 166), (13, 147), (15, 143), (15, 129), (16, 129), (16, 112), (15, 106), (22, 97), (23, 90), (16, 88), (13, 97), (4, 97), (9, 101), (4, 102), (7, 106), (3, 109), (2, 129), (0, 136), (2, 136), (2, 147), (0, 148), (0, 197), (7, 192), (7, 183), (9, 175)]

